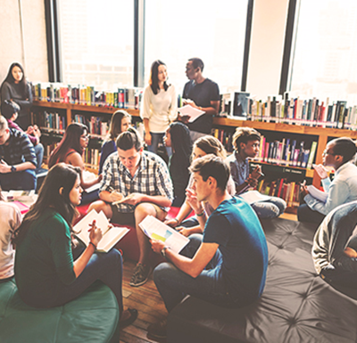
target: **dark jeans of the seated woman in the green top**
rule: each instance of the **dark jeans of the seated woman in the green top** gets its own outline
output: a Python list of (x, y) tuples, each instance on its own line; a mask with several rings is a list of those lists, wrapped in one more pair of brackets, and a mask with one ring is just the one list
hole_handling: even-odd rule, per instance
[[(76, 253), (73, 255), (76, 255)], [(74, 298), (78, 298), (92, 283), (100, 280), (114, 293), (121, 314), (123, 311), (121, 279), (122, 259), (120, 252), (117, 249), (112, 249), (107, 253), (95, 253), (90, 257), (85, 269), (74, 282), (70, 285), (63, 284), (52, 306), (62, 306)]]

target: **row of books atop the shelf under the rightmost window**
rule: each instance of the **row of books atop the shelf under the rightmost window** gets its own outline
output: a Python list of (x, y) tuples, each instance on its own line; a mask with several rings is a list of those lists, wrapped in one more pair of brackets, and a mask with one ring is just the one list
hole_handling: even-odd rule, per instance
[(346, 101), (324, 101), (314, 97), (289, 98), (286, 93), (268, 96), (265, 101), (250, 98), (247, 102), (246, 118), (267, 122), (355, 129), (357, 128), (357, 106), (348, 106)]

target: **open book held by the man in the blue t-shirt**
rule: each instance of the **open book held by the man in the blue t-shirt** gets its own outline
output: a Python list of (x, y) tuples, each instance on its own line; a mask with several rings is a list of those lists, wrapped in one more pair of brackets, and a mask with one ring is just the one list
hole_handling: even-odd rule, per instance
[(179, 253), (189, 242), (189, 239), (178, 233), (170, 226), (163, 224), (154, 216), (146, 216), (139, 227), (147, 237), (153, 240), (163, 241), (172, 251)]

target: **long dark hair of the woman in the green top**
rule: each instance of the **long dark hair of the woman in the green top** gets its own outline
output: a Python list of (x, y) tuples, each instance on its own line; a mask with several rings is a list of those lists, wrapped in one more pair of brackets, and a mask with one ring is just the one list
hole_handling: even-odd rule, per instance
[[(22, 224), (13, 233), (12, 242), (14, 244), (21, 244), (30, 225), (40, 218), (47, 208), (54, 208), (72, 227), (73, 219), (78, 212), (71, 203), (70, 192), (78, 177), (80, 177), (80, 168), (65, 163), (56, 164), (49, 170), (39, 190), (36, 203), (29, 208)], [(60, 193), (61, 188), (63, 188), (62, 193)]]

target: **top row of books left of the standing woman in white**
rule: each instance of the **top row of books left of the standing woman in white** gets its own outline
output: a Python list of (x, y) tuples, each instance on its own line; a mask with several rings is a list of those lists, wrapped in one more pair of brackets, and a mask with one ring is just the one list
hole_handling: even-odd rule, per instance
[(64, 102), (138, 110), (143, 89), (122, 87), (114, 91), (98, 91), (94, 86), (37, 83), (32, 85), (32, 94), (35, 100), (43, 102)]

